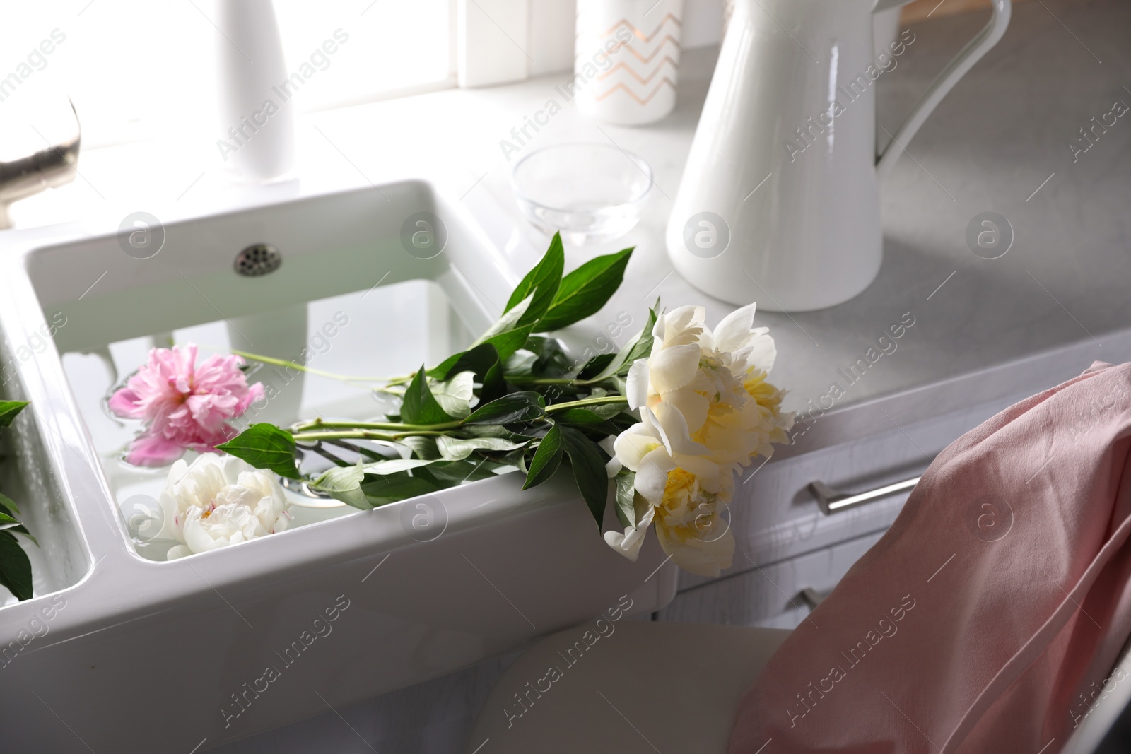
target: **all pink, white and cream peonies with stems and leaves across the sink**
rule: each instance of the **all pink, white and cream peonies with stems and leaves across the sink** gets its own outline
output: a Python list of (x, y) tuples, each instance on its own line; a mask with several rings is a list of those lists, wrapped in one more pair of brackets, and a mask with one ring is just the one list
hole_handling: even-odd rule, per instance
[[(604, 534), (614, 551), (634, 561), (654, 527), (680, 566), (717, 575), (734, 552), (726, 509), (735, 475), (787, 442), (793, 424), (780, 410), (784, 393), (766, 381), (774, 340), (753, 327), (753, 304), (714, 331), (701, 306), (654, 307), (620, 353), (573, 366), (545, 333), (604, 306), (631, 253), (597, 257), (563, 276), (555, 235), (478, 340), (375, 388), (400, 397), (399, 414), (377, 422), (253, 424), (235, 434), (226, 421), (262, 395), (243, 380), (239, 356), (197, 370), (192, 347), (155, 350), (110, 399), (122, 416), (152, 417), (128, 460), (167, 463), (187, 448), (236, 457), (217, 462), (206, 453), (174, 466), (162, 506), (173, 521), (169, 536), (185, 545), (175, 554), (285, 528), (284, 496), (265, 473), (371, 509), (513, 471), (528, 488), (566, 465), (598, 530), (612, 501), (623, 528)], [(334, 467), (303, 474), (307, 453)]]

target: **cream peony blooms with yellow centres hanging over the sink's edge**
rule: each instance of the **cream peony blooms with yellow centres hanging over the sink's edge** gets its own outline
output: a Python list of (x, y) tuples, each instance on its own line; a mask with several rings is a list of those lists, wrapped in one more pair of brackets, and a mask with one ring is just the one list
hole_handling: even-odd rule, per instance
[(715, 332), (701, 306), (659, 317), (651, 355), (629, 371), (628, 400), (641, 422), (614, 443), (616, 461), (636, 473), (647, 503), (637, 526), (605, 534), (605, 541), (636, 560), (655, 525), (664, 552), (700, 575), (731, 566), (734, 535), (727, 506), (734, 475), (754, 456), (787, 442), (793, 415), (784, 393), (766, 382), (777, 355), (767, 328), (753, 328), (754, 305), (726, 317)]

